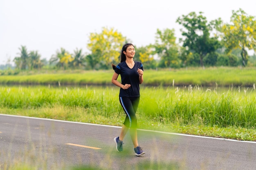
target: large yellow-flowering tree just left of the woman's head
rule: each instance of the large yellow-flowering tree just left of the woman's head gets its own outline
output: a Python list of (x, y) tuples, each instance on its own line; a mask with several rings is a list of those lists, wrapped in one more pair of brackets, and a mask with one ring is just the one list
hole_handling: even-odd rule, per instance
[(101, 66), (108, 67), (119, 62), (121, 48), (126, 38), (114, 28), (103, 27), (101, 33), (90, 33), (88, 49), (92, 52), (94, 61), (100, 61)]

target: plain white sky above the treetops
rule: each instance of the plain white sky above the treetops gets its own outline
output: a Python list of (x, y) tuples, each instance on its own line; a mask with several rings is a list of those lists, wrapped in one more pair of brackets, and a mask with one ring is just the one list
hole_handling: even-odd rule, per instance
[(208, 21), (229, 22), (232, 10), (256, 16), (256, 0), (0, 0), (0, 64), (21, 45), (47, 60), (63, 47), (88, 52), (88, 36), (113, 27), (136, 46), (155, 42), (157, 29), (175, 29), (179, 16), (202, 11)]

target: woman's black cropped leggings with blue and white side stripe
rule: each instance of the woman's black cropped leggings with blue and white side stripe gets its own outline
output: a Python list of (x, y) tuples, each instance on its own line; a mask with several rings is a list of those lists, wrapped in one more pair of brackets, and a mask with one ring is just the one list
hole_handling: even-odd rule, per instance
[(119, 97), (119, 101), (126, 113), (124, 125), (128, 128), (137, 128), (135, 113), (139, 105), (139, 97)]

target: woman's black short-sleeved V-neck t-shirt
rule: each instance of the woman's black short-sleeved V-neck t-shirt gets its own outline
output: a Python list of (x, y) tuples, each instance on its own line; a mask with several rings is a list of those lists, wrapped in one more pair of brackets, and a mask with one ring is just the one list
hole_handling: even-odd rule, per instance
[[(134, 61), (135, 62), (135, 61)], [(133, 68), (129, 68), (126, 62), (117, 64), (115, 72), (121, 75), (121, 84), (130, 84), (130, 88), (124, 90), (120, 88), (119, 97), (139, 97), (139, 73), (137, 70), (143, 70), (141, 62), (135, 62)]]

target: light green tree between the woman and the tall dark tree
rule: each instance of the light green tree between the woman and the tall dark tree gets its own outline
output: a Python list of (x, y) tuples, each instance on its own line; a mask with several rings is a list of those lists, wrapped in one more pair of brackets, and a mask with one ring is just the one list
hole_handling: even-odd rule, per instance
[(177, 67), (180, 65), (178, 58), (178, 46), (174, 36), (174, 29), (164, 29), (163, 31), (157, 29), (155, 36), (155, 53), (164, 61), (166, 67)]

